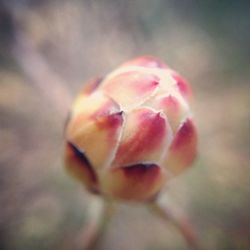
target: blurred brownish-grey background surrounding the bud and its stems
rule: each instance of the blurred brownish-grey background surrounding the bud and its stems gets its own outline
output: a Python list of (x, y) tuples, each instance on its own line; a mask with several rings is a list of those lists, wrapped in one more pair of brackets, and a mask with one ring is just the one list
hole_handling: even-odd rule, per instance
[[(0, 1), (0, 249), (81, 249), (98, 201), (63, 169), (71, 98), (144, 54), (190, 82), (199, 128), (195, 165), (163, 197), (203, 249), (250, 249), (249, 13), (231, 0)], [(188, 247), (143, 206), (120, 205), (99, 249)]]

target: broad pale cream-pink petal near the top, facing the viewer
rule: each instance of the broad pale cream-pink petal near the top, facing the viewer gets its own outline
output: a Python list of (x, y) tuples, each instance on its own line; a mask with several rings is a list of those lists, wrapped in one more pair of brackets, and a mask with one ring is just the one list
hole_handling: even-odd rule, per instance
[(104, 93), (113, 98), (123, 109), (142, 104), (150, 98), (159, 85), (156, 75), (129, 71), (115, 75), (104, 81)]

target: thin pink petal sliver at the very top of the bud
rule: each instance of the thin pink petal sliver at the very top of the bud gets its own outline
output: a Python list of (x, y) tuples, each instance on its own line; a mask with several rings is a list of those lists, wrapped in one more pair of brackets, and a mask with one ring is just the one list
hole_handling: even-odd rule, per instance
[(168, 68), (168, 66), (165, 63), (163, 63), (161, 60), (153, 56), (137, 57), (121, 65), (121, 67), (129, 67), (129, 66), (142, 66), (147, 68), (164, 68), (164, 69)]

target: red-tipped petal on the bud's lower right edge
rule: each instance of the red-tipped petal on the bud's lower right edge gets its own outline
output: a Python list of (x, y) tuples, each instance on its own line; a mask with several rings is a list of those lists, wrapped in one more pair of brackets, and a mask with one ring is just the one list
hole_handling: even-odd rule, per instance
[(177, 131), (163, 166), (178, 175), (189, 167), (197, 154), (197, 132), (191, 119), (187, 119)]

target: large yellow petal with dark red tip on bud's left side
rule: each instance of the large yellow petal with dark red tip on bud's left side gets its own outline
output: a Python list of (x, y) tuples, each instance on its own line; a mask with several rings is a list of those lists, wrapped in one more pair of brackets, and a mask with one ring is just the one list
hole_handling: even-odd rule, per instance
[(123, 113), (115, 102), (103, 95), (91, 96), (84, 104), (81, 113), (69, 121), (66, 137), (98, 169), (113, 157), (121, 135)]

